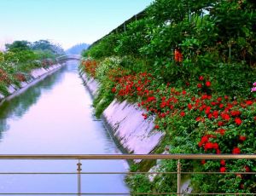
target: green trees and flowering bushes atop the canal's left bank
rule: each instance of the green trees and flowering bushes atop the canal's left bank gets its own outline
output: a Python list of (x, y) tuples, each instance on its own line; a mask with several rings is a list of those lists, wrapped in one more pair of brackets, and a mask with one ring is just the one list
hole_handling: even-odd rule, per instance
[(9, 95), (9, 85), (19, 88), (20, 82), (31, 79), (29, 72), (32, 69), (55, 64), (55, 58), (63, 53), (60, 46), (47, 40), (6, 44), (6, 51), (0, 52), (0, 94)]

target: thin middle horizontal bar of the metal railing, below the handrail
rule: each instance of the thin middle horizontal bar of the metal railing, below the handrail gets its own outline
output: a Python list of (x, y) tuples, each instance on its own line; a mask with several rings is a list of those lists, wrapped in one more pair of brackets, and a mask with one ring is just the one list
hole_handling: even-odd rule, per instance
[[(228, 175), (228, 174), (243, 174), (243, 175), (256, 175), (256, 172), (220, 172), (220, 171), (209, 171), (209, 172), (193, 172), (193, 171), (183, 171), (183, 172), (177, 172), (177, 171), (170, 171), (170, 172), (80, 172), (81, 175), (119, 175), (119, 174), (125, 174), (125, 175), (135, 175), (135, 174), (146, 174), (146, 175), (152, 175), (152, 174), (222, 174), (222, 175)], [(0, 175), (77, 175), (78, 172), (0, 172)]]

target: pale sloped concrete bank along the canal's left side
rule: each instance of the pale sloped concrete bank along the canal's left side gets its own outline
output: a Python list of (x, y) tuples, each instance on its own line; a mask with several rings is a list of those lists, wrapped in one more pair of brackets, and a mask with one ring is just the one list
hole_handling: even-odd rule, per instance
[(53, 66), (49, 66), (48, 68), (38, 68), (38, 69), (33, 69), (30, 72), (31, 79), (26, 82), (21, 82), (20, 87), (16, 86), (15, 84), (10, 84), (8, 91), (9, 95), (4, 96), (0, 93), (0, 106), (3, 104), (4, 101), (9, 101), (16, 95), (20, 95), (20, 93), (24, 92), (26, 89), (31, 87), (34, 84), (37, 84), (39, 81), (43, 80), (53, 72), (56, 72), (59, 70), (64, 64), (55, 64)]

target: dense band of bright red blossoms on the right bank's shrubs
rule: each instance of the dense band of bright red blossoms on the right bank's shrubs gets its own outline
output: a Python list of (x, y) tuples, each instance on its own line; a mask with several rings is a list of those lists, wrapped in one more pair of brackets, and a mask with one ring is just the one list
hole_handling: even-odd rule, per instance
[[(156, 89), (153, 83), (154, 78), (148, 73), (125, 75), (116, 78), (115, 81), (116, 85), (112, 92), (118, 97), (124, 98), (137, 96), (138, 100), (141, 100), (137, 106), (145, 108), (148, 112), (143, 113), (143, 118), (147, 119), (150, 115), (156, 117), (154, 129), (165, 129), (168, 126), (168, 123), (158, 123), (162, 122), (160, 119), (189, 116), (190, 119), (194, 118), (194, 124), (212, 124), (211, 127), (218, 127), (216, 130), (210, 130), (212, 134), (201, 136), (198, 146), (203, 148), (204, 152), (234, 154), (242, 152), (242, 149), (237, 147), (237, 141), (239, 143), (246, 141), (246, 135), (239, 135), (238, 140), (233, 142), (230, 151), (222, 152), (222, 147), (218, 142), (222, 141), (229, 125), (233, 124), (233, 126), (239, 127), (243, 124), (246, 119), (243, 111), (253, 107), (255, 100), (232, 101), (228, 95), (213, 97), (203, 92), (195, 95), (185, 89), (171, 88), (169, 84), (165, 88)], [(212, 86), (211, 81), (205, 81), (203, 76), (199, 77), (199, 81), (201, 83), (197, 84), (197, 87), (201, 88), (204, 85), (204, 88), (211, 88)], [(209, 125), (207, 126), (209, 127)], [(220, 170), (224, 172), (226, 170), (224, 161), (221, 163)]]

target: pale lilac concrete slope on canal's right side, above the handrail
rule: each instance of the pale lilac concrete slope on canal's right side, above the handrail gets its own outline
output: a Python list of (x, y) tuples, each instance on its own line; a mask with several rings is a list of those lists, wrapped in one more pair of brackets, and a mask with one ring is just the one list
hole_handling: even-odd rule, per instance
[[(85, 73), (80, 73), (84, 84), (92, 96), (96, 95), (100, 84)], [(114, 100), (103, 112), (102, 118), (108, 130), (127, 153), (148, 154), (160, 144), (164, 134), (154, 130), (154, 119), (144, 120), (145, 112), (127, 101)]]

